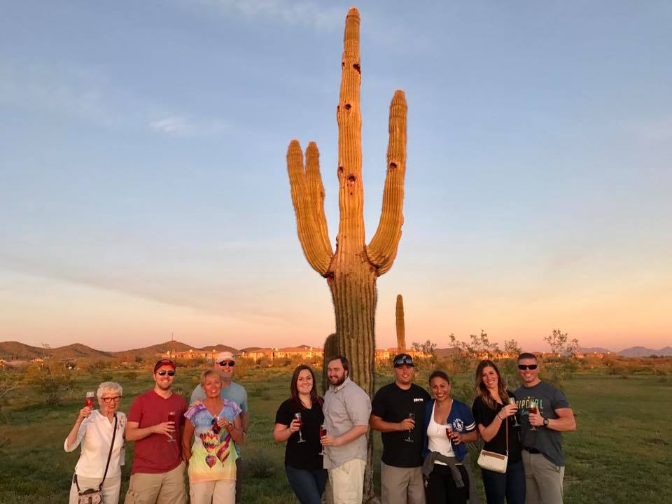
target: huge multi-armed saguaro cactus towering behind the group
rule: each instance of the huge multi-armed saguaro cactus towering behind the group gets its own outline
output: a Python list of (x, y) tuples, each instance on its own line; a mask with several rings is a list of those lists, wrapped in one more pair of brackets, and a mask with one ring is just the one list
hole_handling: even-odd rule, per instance
[[(351, 379), (373, 396), (376, 279), (392, 267), (401, 238), (407, 106), (404, 92), (396, 91), (390, 105), (382, 212), (378, 229), (366, 245), (359, 99), (359, 25), (359, 12), (351, 8), (345, 21), (341, 90), (336, 107), (340, 221), (335, 252), (329, 241), (324, 214), (324, 187), (316, 144), (311, 142), (308, 145), (304, 165), (301, 146), (297, 140), (292, 140), (287, 151), (287, 167), (303, 252), (311, 267), (327, 279), (331, 290), (339, 353), (350, 360)], [(372, 438), (365, 476), (365, 501), (374, 497), (371, 442)]]

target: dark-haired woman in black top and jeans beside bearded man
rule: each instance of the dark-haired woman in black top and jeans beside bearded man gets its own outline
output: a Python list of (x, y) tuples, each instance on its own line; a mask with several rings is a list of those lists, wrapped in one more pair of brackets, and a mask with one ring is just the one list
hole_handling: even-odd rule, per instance
[[(291, 397), (275, 414), (275, 442), (287, 442), (285, 472), (301, 504), (320, 504), (327, 483), (322, 467), (320, 426), (324, 423), (323, 400), (315, 390), (315, 374), (307, 365), (294, 370)], [(297, 418), (300, 414), (300, 418)]]

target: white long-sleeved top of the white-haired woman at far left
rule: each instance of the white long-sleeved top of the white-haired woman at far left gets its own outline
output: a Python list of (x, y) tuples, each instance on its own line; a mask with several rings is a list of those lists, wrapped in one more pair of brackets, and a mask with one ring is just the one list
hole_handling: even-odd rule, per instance
[[(102, 478), (105, 474), (107, 455), (110, 453), (114, 419), (110, 422), (106, 416), (94, 409), (79, 426), (77, 438), (71, 447), (68, 447), (66, 437), (63, 443), (65, 451), (74, 451), (78, 444), (82, 444), (82, 453), (75, 466), (75, 474), (82, 477)], [(107, 477), (121, 475), (121, 466), (124, 465), (126, 450), (124, 435), (126, 432), (126, 415), (117, 412), (117, 434), (114, 438), (114, 448), (110, 456), (110, 465)], [(82, 442), (83, 440), (83, 442)]]

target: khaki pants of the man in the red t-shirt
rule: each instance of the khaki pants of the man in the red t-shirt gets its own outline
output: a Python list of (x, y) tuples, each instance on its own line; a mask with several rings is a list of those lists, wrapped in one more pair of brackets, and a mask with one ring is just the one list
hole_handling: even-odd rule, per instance
[(168, 472), (136, 472), (131, 476), (124, 504), (186, 504), (184, 462)]

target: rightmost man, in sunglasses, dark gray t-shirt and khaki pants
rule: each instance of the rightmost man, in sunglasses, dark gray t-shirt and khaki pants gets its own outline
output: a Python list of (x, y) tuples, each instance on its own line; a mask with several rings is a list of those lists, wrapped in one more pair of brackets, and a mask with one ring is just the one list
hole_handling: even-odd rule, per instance
[(539, 379), (533, 353), (518, 356), (518, 374), (523, 385), (514, 395), (522, 423), (525, 504), (562, 504), (562, 432), (576, 430), (574, 413), (561, 391)]

